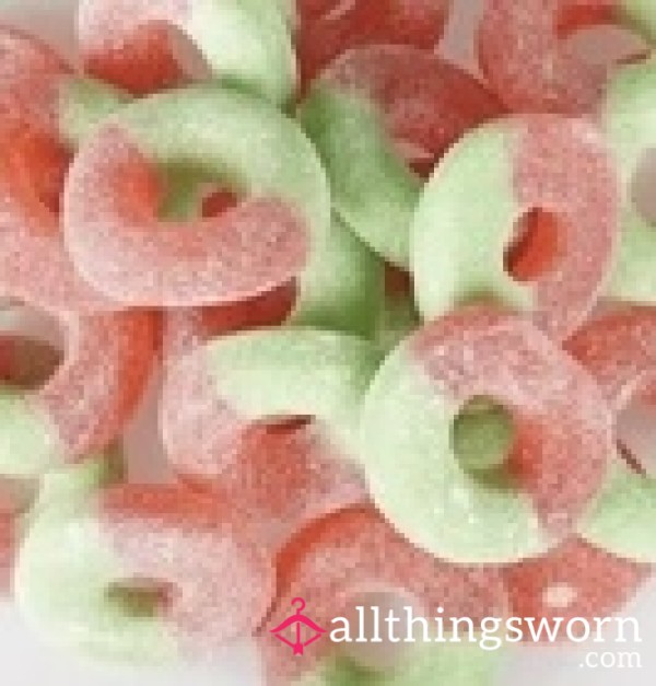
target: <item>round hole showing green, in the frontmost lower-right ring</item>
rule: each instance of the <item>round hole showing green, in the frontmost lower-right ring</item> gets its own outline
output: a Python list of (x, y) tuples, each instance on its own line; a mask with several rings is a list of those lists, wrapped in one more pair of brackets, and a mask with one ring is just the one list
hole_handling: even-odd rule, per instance
[(503, 478), (514, 438), (511, 412), (493, 399), (480, 396), (465, 404), (452, 427), (456, 460), (470, 476), (485, 482)]

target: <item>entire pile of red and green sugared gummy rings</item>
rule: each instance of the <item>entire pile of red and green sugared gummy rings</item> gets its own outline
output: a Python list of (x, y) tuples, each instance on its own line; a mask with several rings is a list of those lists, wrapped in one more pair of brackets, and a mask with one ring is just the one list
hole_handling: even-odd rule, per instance
[[(478, 79), (436, 56), (450, 4), (81, 0), (80, 68), (0, 28), (0, 294), (61, 339), (0, 338), (0, 556), (45, 638), (472, 686), (466, 644), (376, 667), (273, 633), (380, 591), (602, 617), (651, 575), (622, 426), (656, 417), (656, 5), (487, 0)], [(600, 24), (647, 47), (586, 61)], [(138, 484), (153, 385), (173, 478)]]

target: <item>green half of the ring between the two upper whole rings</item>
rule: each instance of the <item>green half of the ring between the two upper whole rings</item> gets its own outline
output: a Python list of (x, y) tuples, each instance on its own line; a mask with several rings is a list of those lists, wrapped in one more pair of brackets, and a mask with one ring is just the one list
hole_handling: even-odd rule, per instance
[(396, 152), (364, 97), (318, 83), (297, 113), (326, 165), (332, 204), (374, 252), (408, 268), (421, 181)]

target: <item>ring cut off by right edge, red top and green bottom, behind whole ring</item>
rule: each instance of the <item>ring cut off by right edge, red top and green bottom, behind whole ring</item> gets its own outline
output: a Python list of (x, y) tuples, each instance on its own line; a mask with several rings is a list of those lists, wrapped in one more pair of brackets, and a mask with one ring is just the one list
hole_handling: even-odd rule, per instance
[[(616, 412), (656, 379), (656, 309), (622, 307), (594, 319), (566, 348), (598, 381)], [(618, 457), (581, 535), (614, 555), (656, 562), (656, 480), (637, 474)]]

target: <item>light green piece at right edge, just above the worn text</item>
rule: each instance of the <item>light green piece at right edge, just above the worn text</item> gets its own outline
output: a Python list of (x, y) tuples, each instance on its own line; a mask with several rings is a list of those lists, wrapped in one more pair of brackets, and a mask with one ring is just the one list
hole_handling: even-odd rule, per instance
[(578, 532), (619, 557), (656, 562), (656, 480), (636, 474), (620, 457)]

